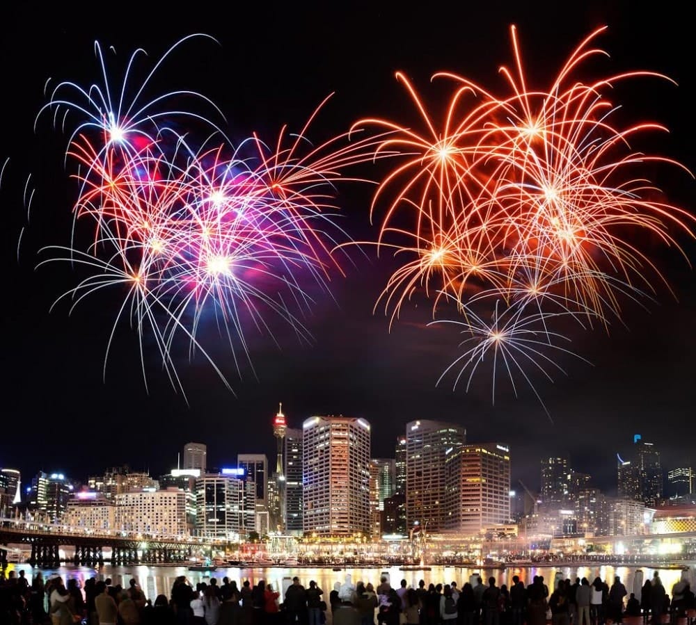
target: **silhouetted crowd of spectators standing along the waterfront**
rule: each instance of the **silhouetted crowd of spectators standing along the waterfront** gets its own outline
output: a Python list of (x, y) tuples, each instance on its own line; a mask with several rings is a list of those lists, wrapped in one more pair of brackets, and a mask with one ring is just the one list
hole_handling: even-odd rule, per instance
[(44, 581), (39, 571), (31, 583), (24, 571), (0, 576), (0, 625), (608, 625), (622, 624), (625, 616), (642, 617), (660, 625), (696, 608), (695, 596), (684, 577), (667, 594), (656, 571), (645, 581), (640, 599), (615, 576), (612, 585), (596, 577), (557, 578), (549, 589), (542, 576), (528, 585), (513, 576), (508, 588), (496, 578), (484, 583), (470, 578), (456, 582), (409, 587), (402, 580), (393, 588), (387, 576), (379, 584), (336, 582), (327, 595), (312, 580), (305, 587), (298, 577), (284, 593), (260, 580), (241, 586), (225, 577), (219, 583), (193, 587), (177, 577), (169, 596), (145, 597), (135, 579), (126, 589), (111, 579), (77, 579), (64, 585), (60, 576)]

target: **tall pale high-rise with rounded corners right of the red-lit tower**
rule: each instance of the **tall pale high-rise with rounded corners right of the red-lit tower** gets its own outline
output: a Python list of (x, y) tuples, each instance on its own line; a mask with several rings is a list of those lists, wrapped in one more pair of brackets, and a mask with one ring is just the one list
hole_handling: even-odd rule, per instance
[(305, 533), (370, 533), (370, 424), (313, 416), (302, 424)]

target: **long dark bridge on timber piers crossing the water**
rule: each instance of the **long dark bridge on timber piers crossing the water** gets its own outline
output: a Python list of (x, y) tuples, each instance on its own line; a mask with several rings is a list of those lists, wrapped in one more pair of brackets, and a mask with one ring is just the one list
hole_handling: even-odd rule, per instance
[[(0, 522), (0, 566), (8, 564), (8, 545), (31, 546), (29, 564), (37, 567), (59, 567), (62, 564), (82, 566), (161, 565), (187, 562), (191, 556), (212, 548), (226, 549), (229, 541), (189, 536), (162, 536), (122, 531), (94, 531), (60, 525), (41, 525), (26, 521), (3, 519)], [(74, 547), (74, 556), (61, 559), (62, 546)], [(105, 555), (106, 551), (109, 555)]]

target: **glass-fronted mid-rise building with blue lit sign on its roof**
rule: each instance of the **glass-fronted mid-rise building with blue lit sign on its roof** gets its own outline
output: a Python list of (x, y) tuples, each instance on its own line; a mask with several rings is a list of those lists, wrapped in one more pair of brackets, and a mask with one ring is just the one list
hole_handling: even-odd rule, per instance
[(196, 535), (238, 540), (244, 493), (244, 480), (237, 476), (201, 474), (196, 479)]

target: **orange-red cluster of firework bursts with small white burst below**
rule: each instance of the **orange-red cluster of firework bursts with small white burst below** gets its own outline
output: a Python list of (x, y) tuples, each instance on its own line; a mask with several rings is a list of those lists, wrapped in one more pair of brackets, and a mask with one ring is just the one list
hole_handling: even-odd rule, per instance
[(605, 30), (590, 33), (539, 89), (529, 84), (512, 26), (514, 66), (500, 68), (501, 94), (438, 72), (434, 79), (454, 84), (438, 121), (399, 72), (422, 127), (380, 118), (354, 124), (388, 132), (376, 156), (400, 154), (370, 209), (371, 219), (382, 215), (378, 253), (391, 249), (403, 259), (375, 308), (383, 306), (390, 327), (416, 295), (431, 302), (434, 323), (442, 311), (457, 311), (445, 323), (461, 325), (473, 342), (464, 341), (467, 350), (445, 371), (461, 367), (457, 380), (492, 354), (515, 393), (521, 375), (541, 401), (525, 371), (531, 366), (549, 378), (552, 361), (541, 346), (557, 346), (557, 322), (571, 317), (608, 331), (612, 319), (622, 320), (626, 296), (651, 299), (655, 282), (668, 287), (635, 234), (647, 232), (682, 254), (679, 239), (694, 236), (694, 217), (650, 180), (657, 165), (690, 172), (632, 147), (665, 127), (621, 123), (609, 97), (617, 83), (670, 79), (644, 71), (580, 79), (584, 63), (606, 55), (593, 47)]

